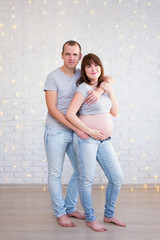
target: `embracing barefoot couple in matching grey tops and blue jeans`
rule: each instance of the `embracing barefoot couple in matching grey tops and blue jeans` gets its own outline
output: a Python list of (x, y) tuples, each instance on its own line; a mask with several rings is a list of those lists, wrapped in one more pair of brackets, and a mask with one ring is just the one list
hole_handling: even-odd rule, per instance
[[(74, 227), (71, 217), (85, 219), (91, 229), (107, 229), (95, 217), (92, 206), (92, 185), (96, 162), (108, 178), (104, 223), (126, 224), (114, 216), (115, 203), (123, 181), (123, 173), (111, 143), (112, 116), (118, 104), (112, 89), (113, 79), (104, 75), (101, 60), (93, 53), (82, 59), (78, 42), (67, 41), (62, 48), (63, 66), (51, 72), (44, 91), (48, 114), (44, 143), (48, 162), (48, 188), (54, 215), (63, 227)], [(73, 174), (65, 200), (62, 197), (61, 175), (67, 153)], [(80, 201), (84, 215), (76, 209)]]

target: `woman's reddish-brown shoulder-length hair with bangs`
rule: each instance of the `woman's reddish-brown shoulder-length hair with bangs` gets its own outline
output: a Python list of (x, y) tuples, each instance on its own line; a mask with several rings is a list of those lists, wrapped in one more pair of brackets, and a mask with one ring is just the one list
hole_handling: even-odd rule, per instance
[(82, 63), (81, 63), (81, 78), (77, 80), (77, 86), (83, 82), (92, 85), (91, 81), (88, 79), (86, 72), (85, 72), (85, 67), (89, 66), (91, 64), (97, 64), (98, 66), (100, 66), (101, 68), (101, 75), (98, 78), (98, 84), (97, 87), (103, 82), (103, 78), (104, 78), (104, 69), (103, 69), (103, 65), (101, 60), (99, 59), (99, 57), (93, 53), (89, 53), (87, 55), (85, 55), (82, 59)]

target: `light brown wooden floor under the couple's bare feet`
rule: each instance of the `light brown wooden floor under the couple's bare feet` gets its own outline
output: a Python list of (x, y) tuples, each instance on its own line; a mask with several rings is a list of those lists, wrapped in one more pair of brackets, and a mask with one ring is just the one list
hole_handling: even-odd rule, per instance
[[(93, 205), (101, 223), (104, 198), (105, 190), (93, 189)], [(80, 203), (77, 208), (82, 210)], [(64, 228), (53, 216), (47, 189), (0, 188), (0, 240), (160, 239), (160, 192), (156, 189), (121, 189), (115, 215), (126, 221), (126, 228), (105, 224), (108, 231), (97, 233), (77, 219), (73, 219), (75, 228)]]

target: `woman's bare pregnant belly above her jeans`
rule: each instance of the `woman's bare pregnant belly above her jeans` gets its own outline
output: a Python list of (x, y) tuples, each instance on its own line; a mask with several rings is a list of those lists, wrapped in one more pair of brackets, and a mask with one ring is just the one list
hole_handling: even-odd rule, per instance
[(79, 118), (88, 127), (98, 129), (103, 132), (106, 139), (113, 132), (113, 121), (110, 113), (100, 113), (96, 115), (80, 115)]

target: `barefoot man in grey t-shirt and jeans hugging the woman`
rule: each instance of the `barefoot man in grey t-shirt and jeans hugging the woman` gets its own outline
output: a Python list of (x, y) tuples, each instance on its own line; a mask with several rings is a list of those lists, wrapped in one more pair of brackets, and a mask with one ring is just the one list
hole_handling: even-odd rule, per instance
[[(75, 165), (75, 153), (72, 145), (72, 134), (87, 139), (88, 135), (75, 128), (66, 118), (67, 108), (76, 91), (76, 81), (80, 78), (80, 70), (76, 66), (82, 57), (81, 46), (75, 41), (67, 41), (62, 48), (63, 66), (51, 72), (46, 80), (44, 91), (48, 115), (44, 134), (45, 150), (48, 161), (48, 187), (54, 214), (63, 227), (74, 227), (70, 216), (84, 219), (78, 210), (78, 175)], [(112, 79), (108, 79), (112, 82)], [(104, 90), (89, 93), (89, 104), (98, 101)], [(65, 200), (62, 197), (61, 175), (65, 153), (69, 156), (73, 167)]]

